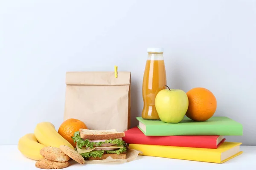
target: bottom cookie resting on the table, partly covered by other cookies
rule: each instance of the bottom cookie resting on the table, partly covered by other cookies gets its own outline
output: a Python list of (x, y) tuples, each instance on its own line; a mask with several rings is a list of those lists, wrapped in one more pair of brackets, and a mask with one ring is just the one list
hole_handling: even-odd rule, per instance
[(68, 167), (69, 165), (69, 162), (57, 162), (45, 158), (40, 159), (35, 163), (35, 167), (40, 169), (62, 169)]

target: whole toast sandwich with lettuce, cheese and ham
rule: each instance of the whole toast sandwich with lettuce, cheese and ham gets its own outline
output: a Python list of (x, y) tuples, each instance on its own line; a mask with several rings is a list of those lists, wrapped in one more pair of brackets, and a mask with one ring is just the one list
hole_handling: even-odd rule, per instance
[(85, 160), (126, 159), (126, 143), (122, 140), (124, 132), (112, 130), (80, 129), (72, 139), (77, 152)]

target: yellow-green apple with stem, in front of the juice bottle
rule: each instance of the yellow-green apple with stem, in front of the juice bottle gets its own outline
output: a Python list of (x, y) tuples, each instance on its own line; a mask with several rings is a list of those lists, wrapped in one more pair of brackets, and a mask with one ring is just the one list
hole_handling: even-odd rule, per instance
[(179, 123), (189, 107), (186, 93), (180, 89), (163, 89), (157, 93), (155, 108), (162, 122)]

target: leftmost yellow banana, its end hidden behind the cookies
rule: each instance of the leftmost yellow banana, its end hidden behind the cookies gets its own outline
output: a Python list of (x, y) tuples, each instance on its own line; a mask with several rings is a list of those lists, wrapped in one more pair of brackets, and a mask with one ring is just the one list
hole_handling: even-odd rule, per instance
[(29, 159), (39, 160), (43, 156), (40, 155), (40, 150), (45, 147), (43, 144), (38, 143), (33, 133), (28, 133), (22, 136), (18, 142), (18, 150)]

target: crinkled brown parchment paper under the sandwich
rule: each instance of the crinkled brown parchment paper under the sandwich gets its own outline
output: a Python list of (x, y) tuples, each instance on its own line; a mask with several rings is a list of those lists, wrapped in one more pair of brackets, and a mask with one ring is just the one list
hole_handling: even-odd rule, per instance
[(134, 149), (130, 149), (127, 146), (127, 152), (126, 152), (126, 159), (113, 159), (110, 156), (107, 159), (103, 159), (103, 160), (92, 160), (92, 161), (85, 161), (85, 164), (99, 164), (99, 163), (106, 163), (106, 162), (113, 162), (113, 163), (125, 163), (125, 162), (130, 162), (130, 161), (134, 161), (139, 153), (142, 154), (141, 151), (139, 150), (134, 150)]

